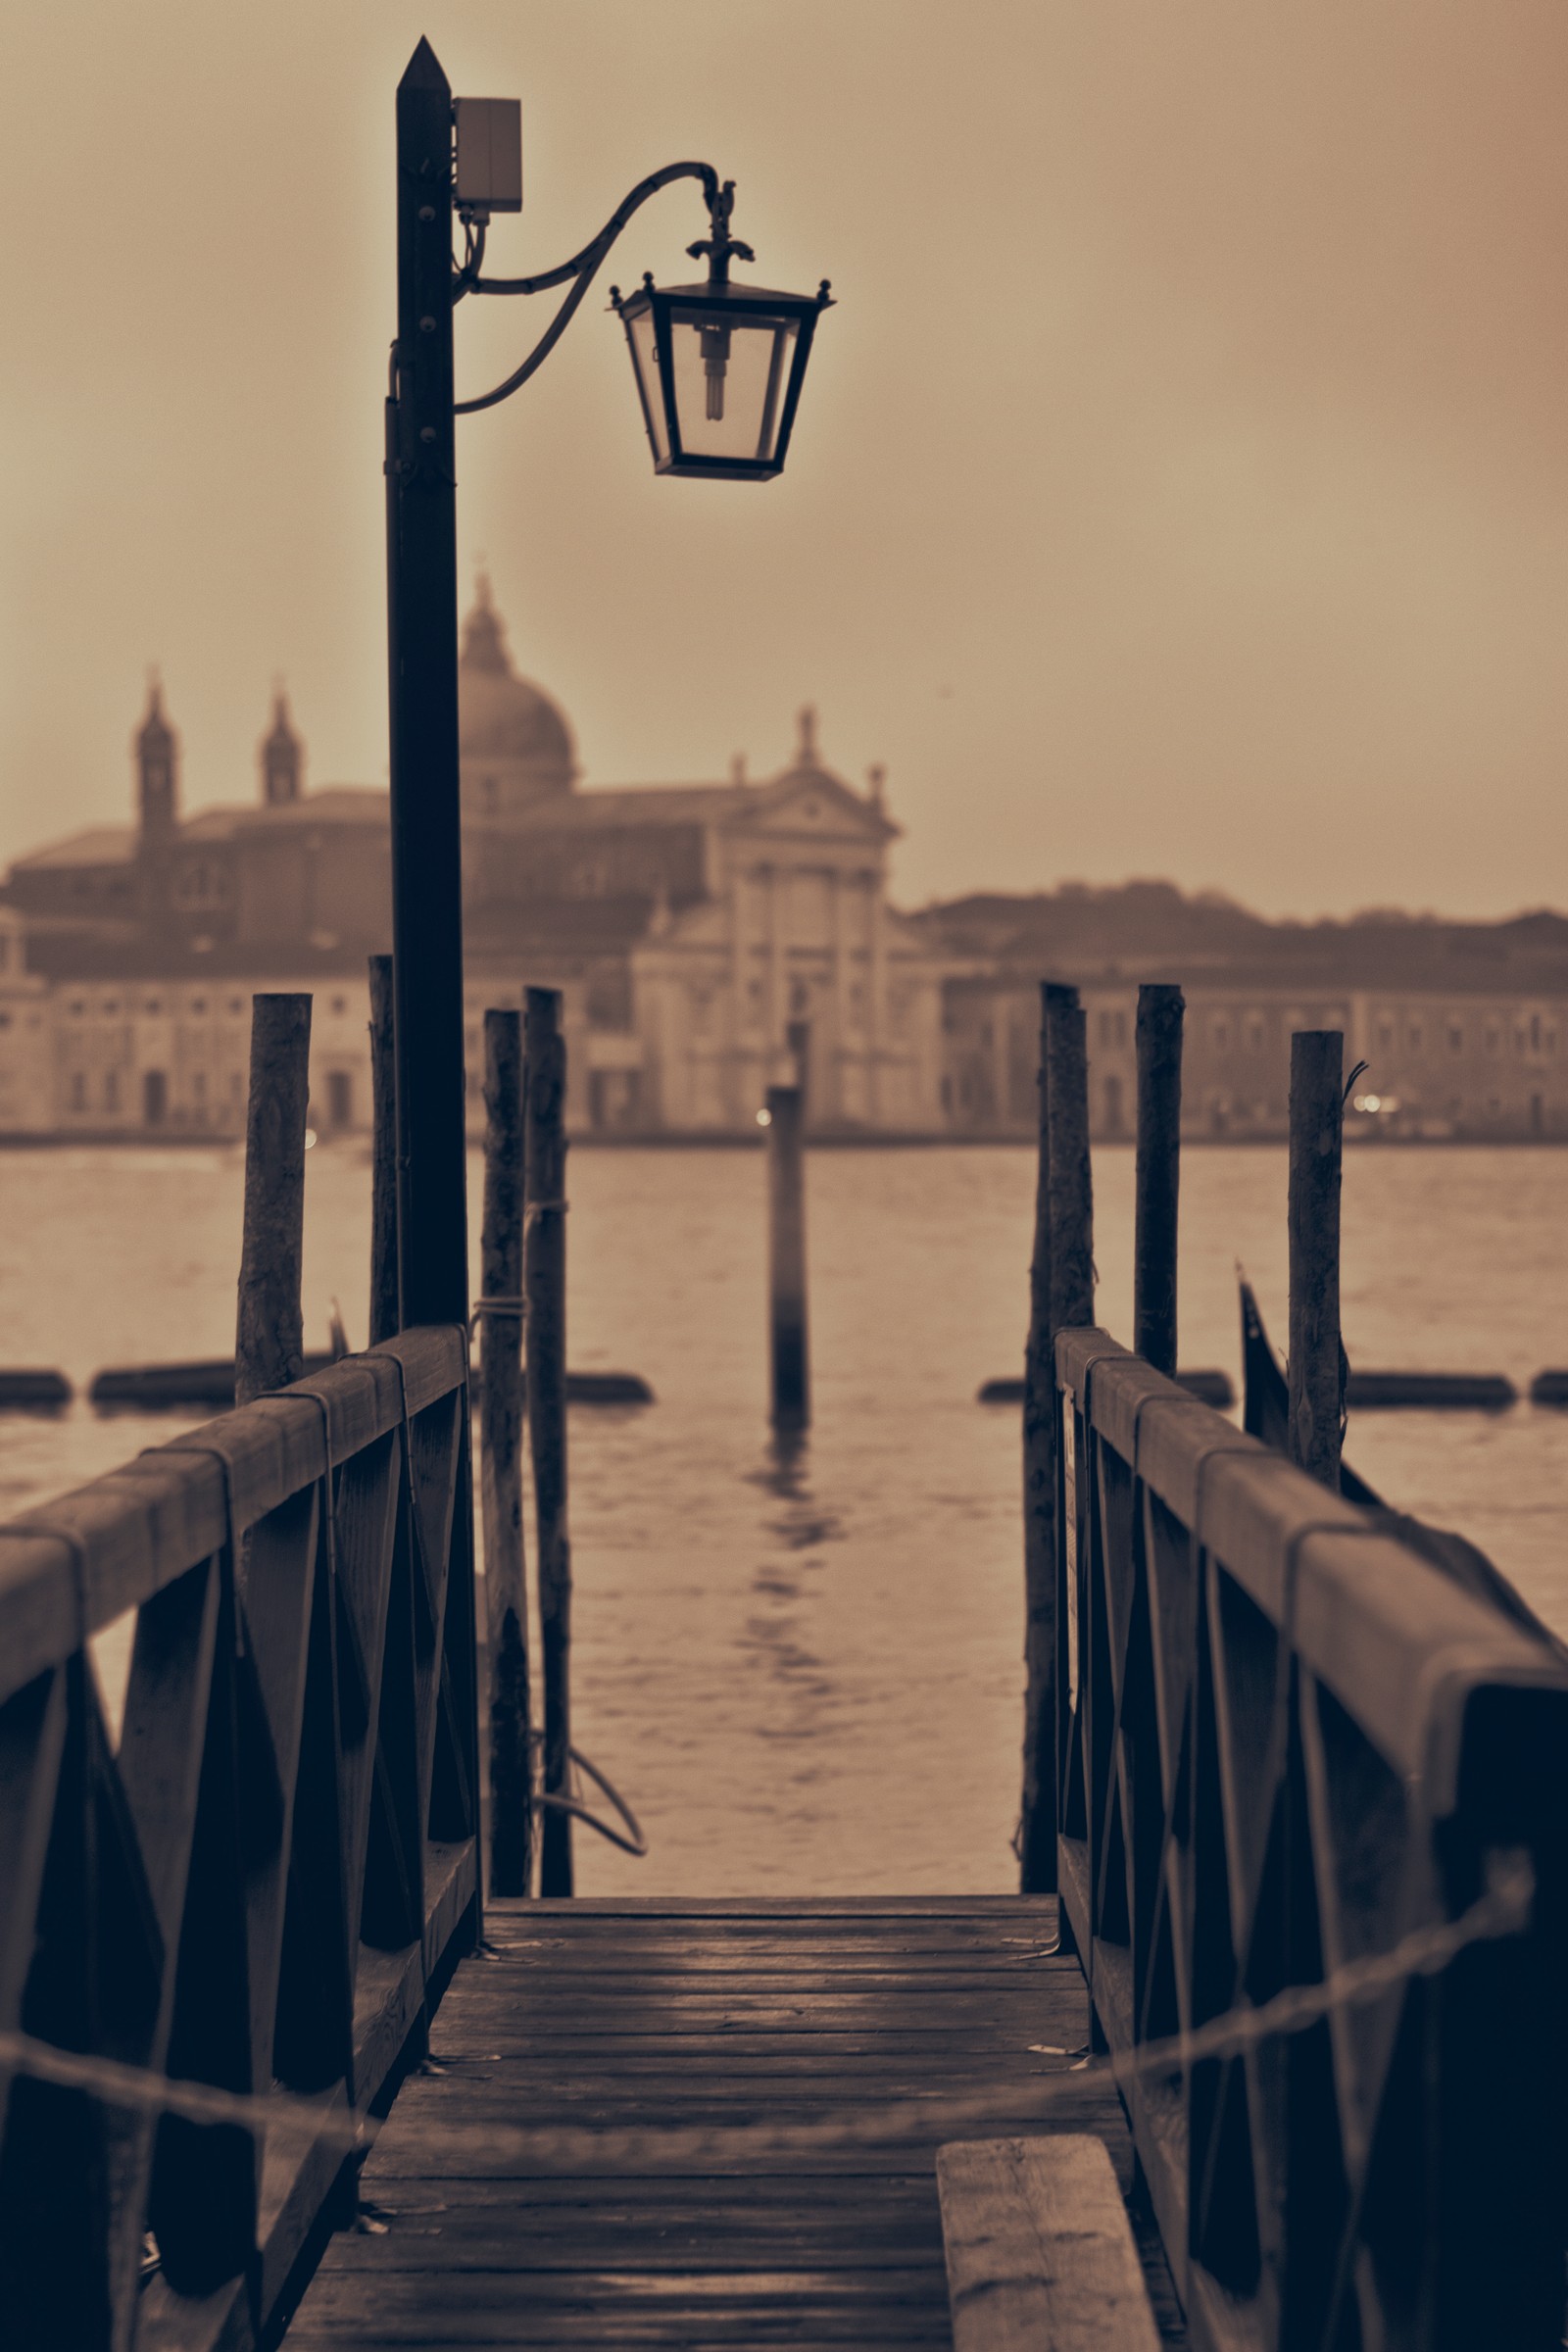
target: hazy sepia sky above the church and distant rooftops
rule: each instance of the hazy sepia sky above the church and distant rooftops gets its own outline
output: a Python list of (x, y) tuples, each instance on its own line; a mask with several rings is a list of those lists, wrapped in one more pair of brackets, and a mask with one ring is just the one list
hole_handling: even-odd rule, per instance
[[(602, 294), (458, 426), (461, 557), (590, 783), (820, 708), (907, 903), (1168, 873), (1279, 913), (1568, 906), (1561, 0), (12, 0), (0, 858), (386, 776), (393, 89), (520, 96), (576, 249), (661, 162), (830, 310), (790, 468), (661, 482)], [(696, 188), (604, 282), (689, 275)], [(463, 303), (480, 390), (545, 325)]]

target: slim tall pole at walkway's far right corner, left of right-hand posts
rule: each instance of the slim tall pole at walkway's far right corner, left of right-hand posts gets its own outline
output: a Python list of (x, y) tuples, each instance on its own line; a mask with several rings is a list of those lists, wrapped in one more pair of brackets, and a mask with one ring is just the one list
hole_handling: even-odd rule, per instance
[(1051, 1087), (1039, 990), (1039, 1155), (1034, 1162), (1034, 1256), (1030, 1336), (1023, 1355), (1023, 1816), (1018, 1891), (1056, 1893), (1056, 1352), (1051, 1331)]

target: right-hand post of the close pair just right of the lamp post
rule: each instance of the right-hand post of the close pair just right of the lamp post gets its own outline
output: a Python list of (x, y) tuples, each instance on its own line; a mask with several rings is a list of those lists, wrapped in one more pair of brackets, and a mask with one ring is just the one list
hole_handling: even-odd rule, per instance
[[(527, 993), (524, 1294), (529, 1439), (545, 1698), (545, 1797), (571, 1788), (571, 1538), (567, 1534), (567, 1040), (555, 988)], [(571, 1813), (545, 1806), (541, 1896), (571, 1893)]]

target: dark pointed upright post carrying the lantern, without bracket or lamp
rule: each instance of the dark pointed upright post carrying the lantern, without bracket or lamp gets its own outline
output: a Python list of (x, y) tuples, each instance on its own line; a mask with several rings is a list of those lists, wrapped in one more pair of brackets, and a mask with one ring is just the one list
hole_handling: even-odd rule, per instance
[(451, 87), (397, 85), (397, 343), (386, 405), (393, 995), (402, 1322), (468, 1322)]

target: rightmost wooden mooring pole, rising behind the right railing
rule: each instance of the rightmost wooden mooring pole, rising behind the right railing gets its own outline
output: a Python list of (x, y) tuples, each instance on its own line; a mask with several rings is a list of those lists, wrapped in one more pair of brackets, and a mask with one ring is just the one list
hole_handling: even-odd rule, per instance
[(1340, 1345), (1340, 1152), (1345, 1037), (1291, 1037), (1291, 1461), (1340, 1491), (1345, 1350)]

